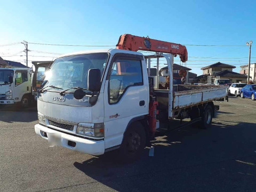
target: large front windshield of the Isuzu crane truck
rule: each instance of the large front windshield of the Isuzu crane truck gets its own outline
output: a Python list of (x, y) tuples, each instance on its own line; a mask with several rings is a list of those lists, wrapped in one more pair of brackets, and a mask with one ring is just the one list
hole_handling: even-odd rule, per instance
[(70, 87), (87, 89), (89, 69), (100, 69), (102, 76), (107, 59), (107, 53), (83, 54), (59, 58), (54, 61), (51, 69), (45, 72), (44, 80), (48, 81), (45, 86), (53, 85), (61, 89), (69, 89)]

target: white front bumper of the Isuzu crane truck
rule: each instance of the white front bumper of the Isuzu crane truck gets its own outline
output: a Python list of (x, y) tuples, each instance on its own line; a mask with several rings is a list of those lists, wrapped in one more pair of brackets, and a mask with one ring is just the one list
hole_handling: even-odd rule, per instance
[[(43, 132), (47, 133), (59, 133), (61, 134), (61, 146), (66, 147), (71, 150), (79, 151), (81, 153), (86, 153), (90, 155), (102, 155), (105, 153), (105, 141), (93, 141), (89, 139), (75, 137), (70, 134), (58, 132), (52, 129), (49, 129), (46, 126), (36, 124), (35, 125), (36, 134), (40, 135), (42, 138), (48, 140), (47, 137), (43, 134)], [(75, 147), (71, 147), (68, 145), (68, 141), (73, 141), (76, 143)]]

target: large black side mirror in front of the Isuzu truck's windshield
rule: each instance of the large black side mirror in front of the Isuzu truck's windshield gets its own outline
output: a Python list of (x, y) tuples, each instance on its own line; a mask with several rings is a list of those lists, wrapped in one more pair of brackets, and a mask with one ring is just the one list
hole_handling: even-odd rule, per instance
[(101, 87), (101, 71), (100, 69), (89, 69), (87, 79), (87, 89), (94, 92), (100, 91)]

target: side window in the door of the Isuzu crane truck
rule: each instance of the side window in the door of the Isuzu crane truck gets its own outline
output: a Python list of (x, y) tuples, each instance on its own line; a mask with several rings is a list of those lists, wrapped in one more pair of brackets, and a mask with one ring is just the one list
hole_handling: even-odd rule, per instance
[(109, 103), (117, 103), (129, 86), (143, 85), (140, 60), (116, 59), (109, 78)]

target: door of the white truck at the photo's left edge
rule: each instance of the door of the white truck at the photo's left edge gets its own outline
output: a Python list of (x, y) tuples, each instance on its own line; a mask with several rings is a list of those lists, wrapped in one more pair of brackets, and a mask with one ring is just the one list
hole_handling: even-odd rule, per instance
[(14, 93), (13, 98), (14, 102), (21, 101), (22, 96), (26, 93), (30, 93), (30, 82), (28, 79), (28, 71), (27, 70), (17, 70), (14, 75), (15, 81), (14, 83)]

